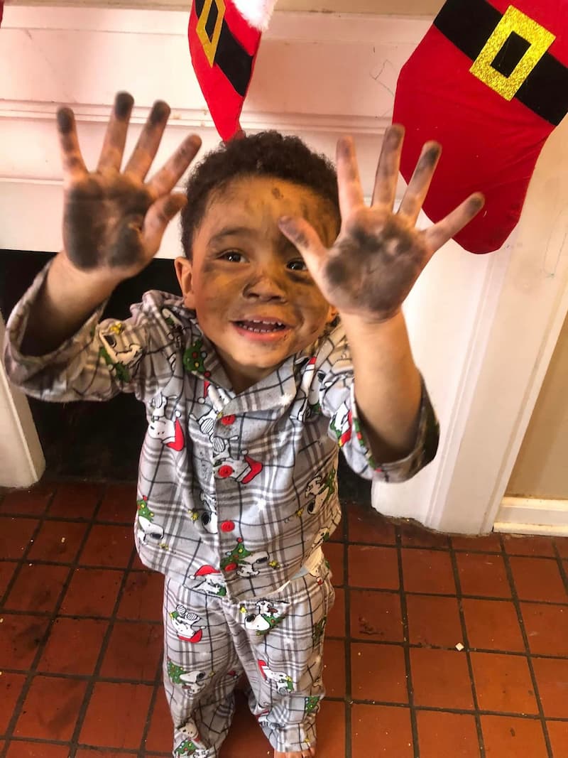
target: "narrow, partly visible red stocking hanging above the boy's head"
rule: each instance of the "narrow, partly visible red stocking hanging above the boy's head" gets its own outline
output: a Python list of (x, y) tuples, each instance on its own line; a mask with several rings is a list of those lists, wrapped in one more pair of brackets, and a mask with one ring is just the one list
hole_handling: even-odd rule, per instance
[(221, 139), (240, 132), (239, 117), (261, 33), (276, 0), (193, 0), (189, 51), (199, 86)]

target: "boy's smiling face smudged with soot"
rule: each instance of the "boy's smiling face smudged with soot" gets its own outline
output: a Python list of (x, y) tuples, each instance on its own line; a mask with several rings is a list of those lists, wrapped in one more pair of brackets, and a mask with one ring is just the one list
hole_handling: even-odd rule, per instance
[(281, 216), (302, 216), (326, 246), (337, 222), (311, 189), (272, 177), (239, 177), (215, 193), (195, 232), (192, 260), (176, 258), (185, 305), (242, 392), (319, 337), (335, 318)]

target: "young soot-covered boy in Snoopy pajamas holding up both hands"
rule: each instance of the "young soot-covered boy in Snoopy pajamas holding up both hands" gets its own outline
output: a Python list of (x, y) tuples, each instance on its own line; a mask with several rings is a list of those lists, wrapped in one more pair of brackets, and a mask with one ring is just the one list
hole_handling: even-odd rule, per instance
[[(440, 152), (429, 143), (393, 214), (401, 127), (385, 135), (370, 207), (350, 139), (339, 140), (336, 177), (277, 133), (206, 156), (183, 196), (173, 188), (195, 136), (145, 183), (162, 102), (120, 172), (132, 106), (117, 96), (91, 174), (73, 113), (58, 112), (64, 247), (8, 321), (6, 367), (42, 399), (124, 391), (145, 403), (135, 537), (142, 562), (165, 575), (173, 755), (219, 755), (245, 672), (276, 758), (314, 756), (334, 597), (321, 546), (341, 515), (338, 451), (361, 476), (388, 481), (435, 456), (401, 303), (482, 199), (414, 228)], [(131, 318), (98, 323), (179, 209), (182, 296), (148, 292)]]

